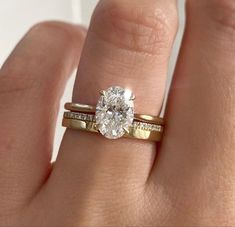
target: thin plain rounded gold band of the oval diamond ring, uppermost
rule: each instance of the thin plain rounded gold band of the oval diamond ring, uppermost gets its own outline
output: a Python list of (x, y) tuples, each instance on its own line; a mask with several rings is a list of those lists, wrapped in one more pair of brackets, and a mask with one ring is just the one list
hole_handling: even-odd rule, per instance
[[(75, 112), (82, 112), (82, 113), (95, 113), (96, 108), (91, 105), (85, 105), (80, 103), (66, 103), (65, 109)], [(158, 125), (164, 125), (164, 119), (152, 115), (146, 114), (135, 114), (134, 119), (136, 121), (146, 122), (146, 123), (153, 123)]]

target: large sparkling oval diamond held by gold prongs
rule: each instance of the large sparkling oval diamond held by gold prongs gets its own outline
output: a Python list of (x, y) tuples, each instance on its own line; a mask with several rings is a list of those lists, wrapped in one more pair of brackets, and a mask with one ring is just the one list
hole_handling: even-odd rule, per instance
[(134, 95), (118, 86), (102, 91), (96, 106), (97, 129), (109, 139), (117, 139), (128, 131), (134, 120)]

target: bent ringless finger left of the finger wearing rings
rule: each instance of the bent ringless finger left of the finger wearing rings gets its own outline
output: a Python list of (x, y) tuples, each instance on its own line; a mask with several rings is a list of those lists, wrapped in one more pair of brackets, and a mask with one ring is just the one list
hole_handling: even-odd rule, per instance
[(74, 25), (38, 24), (0, 70), (1, 208), (26, 202), (49, 173), (58, 104), (83, 37)]

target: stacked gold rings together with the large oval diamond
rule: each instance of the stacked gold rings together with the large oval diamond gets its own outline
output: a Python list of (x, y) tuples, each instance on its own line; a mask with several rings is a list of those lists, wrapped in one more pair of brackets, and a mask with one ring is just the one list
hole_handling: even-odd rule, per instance
[(134, 113), (134, 94), (119, 86), (100, 92), (96, 106), (66, 103), (62, 125), (71, 129), (100, 133), (108, 139), (121, 137), (160, 141), (164, 120)]

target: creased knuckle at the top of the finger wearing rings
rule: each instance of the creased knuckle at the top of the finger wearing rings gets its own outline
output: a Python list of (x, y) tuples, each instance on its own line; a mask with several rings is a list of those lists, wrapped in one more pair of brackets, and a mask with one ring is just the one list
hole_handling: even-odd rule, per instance
[(156, 54), (168, 47), (174, 37), (172, 30), (177, 26), (172, 22), (177, 21), (177, 16), (176, 10), (171, 9), (172, 14), (155, 5), (122, 5), (116, 0), (103, 1), (93, 15), (91, 32), (119, 48)]

